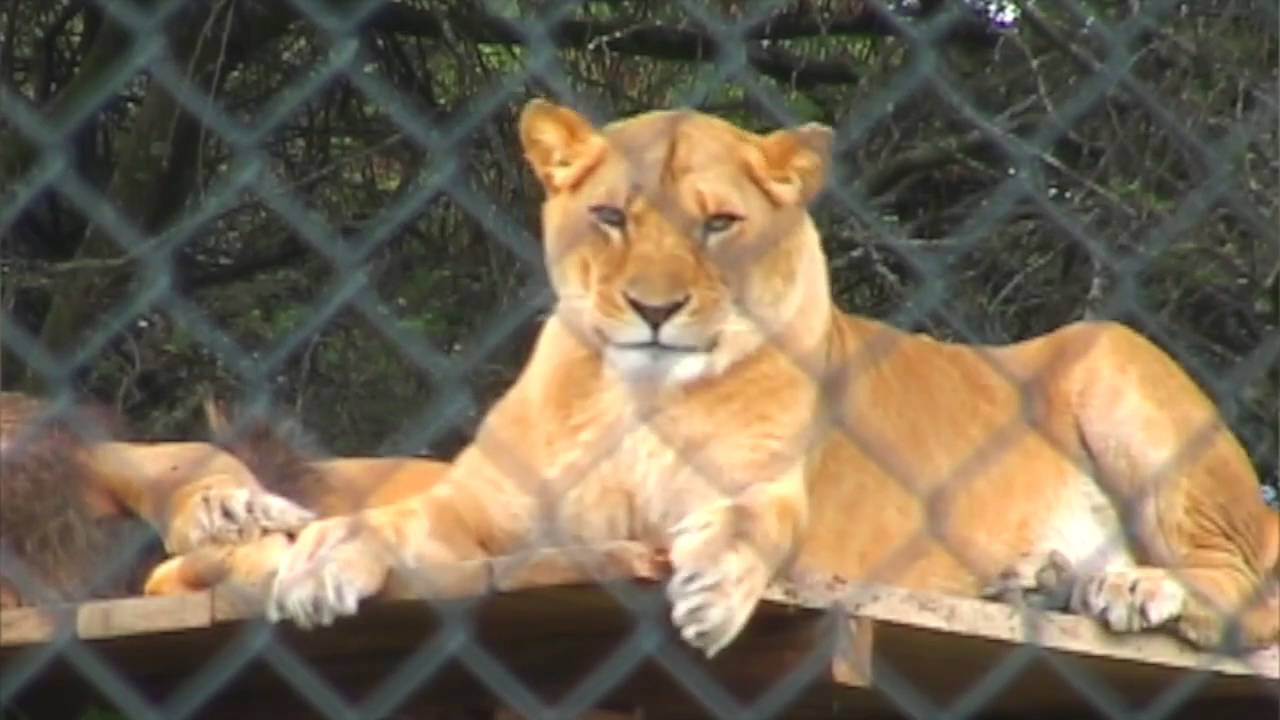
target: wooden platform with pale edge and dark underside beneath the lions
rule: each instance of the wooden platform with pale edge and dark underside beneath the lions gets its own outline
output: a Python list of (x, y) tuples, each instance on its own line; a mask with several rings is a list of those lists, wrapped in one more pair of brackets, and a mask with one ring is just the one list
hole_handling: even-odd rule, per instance
[(1215, 657), (1075, 616), (809, 579), (771, 589), (707, 662), (652, 580), (477, 571), (472, 597), (379, 600), (310, 633), (230, 588), (4, 611), (0, 716), (1280, 717), (1276, 648)]

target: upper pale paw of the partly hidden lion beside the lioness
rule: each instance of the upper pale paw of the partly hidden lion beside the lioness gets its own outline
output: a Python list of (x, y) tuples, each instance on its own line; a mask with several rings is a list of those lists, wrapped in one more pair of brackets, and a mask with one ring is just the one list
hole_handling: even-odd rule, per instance
[(255, 541), (266, 533), (293, 533), (315, 512), (292, 500), (248, 487), (230, 475), (206, 478), (186, 488), (169, 519), (165, 547), (172, 555), (206, 544)]

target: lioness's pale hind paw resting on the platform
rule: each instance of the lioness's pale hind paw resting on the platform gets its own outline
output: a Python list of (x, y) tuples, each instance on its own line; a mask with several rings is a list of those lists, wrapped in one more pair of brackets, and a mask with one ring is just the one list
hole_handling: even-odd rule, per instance
[(1075, 588), (1071, 610), (1091, 615), (1120, 633), (1158, 628), (1179, 618), (1187, 591), (1162, 568), (1108, 570)]

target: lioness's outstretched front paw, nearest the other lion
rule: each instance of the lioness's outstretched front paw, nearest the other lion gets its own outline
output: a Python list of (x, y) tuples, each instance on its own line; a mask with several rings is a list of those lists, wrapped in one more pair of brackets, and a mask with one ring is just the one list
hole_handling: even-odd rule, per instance
[(307, 525), (285, 552), (266, 603), (268, 620), (303, 629), (355, 615), (360, 601), (381, 589), (387, 551), (353, 518)]

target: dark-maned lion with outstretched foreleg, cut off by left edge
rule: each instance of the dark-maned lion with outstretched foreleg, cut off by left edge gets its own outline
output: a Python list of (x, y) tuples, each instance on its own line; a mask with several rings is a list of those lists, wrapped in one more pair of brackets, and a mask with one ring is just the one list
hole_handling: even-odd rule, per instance
[(145, 542), (155, 533), (189, 552), (312, 518), (225, 450), (122, 442), (122, 425), (102, 407), (0, 392), (0, 606), (136, 593), (163, 559)]

